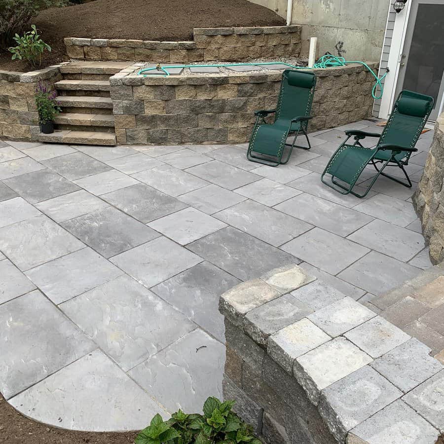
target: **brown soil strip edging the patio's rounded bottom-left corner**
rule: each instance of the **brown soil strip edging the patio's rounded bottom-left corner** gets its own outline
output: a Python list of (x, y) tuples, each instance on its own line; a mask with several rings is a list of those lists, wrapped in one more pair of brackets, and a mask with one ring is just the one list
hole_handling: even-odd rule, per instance
[[(100, 408), (100, 407), (98, 407)], [(148, 421), (149, 418), (147, 418)], [(40, 424), (11, 407), (0, 394), (0, 443), (4, 444), (127, 444), (137, 433), (73, 432)]]

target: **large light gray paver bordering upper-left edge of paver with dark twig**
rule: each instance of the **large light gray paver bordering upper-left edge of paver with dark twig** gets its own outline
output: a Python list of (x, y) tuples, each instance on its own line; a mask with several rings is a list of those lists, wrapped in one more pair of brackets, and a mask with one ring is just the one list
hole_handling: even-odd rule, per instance
[(127, 275), (76, 296), (60, 308), (125, 371), (195, 328), (178, 310)]

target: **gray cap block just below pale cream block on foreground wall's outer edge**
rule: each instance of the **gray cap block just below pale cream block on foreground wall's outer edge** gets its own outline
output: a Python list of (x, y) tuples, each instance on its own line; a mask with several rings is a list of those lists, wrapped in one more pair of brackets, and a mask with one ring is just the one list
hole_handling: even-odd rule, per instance
[(333, 436), (344, 442), (350, 429), (401, 395), (387, 379), (365, 366), (323, 390), (319, 411)]

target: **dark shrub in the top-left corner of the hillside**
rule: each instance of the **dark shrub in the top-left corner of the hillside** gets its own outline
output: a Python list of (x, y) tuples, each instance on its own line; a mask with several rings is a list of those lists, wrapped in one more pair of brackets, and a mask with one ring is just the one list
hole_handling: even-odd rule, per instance
[(16, 34), (27, 31), (40, 10), (65, 4), (66, 0), (0, 0), (0, 48), (7, 49)]

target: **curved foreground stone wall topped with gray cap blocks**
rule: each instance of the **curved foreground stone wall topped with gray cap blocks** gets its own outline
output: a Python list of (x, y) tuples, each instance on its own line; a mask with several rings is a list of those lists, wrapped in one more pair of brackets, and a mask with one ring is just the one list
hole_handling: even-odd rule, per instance
[(296, 265), (224, 293), (225, 399), (268, 444), (434, 444), (442, 364)]

